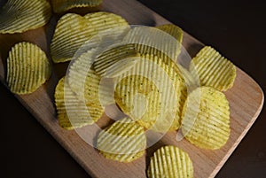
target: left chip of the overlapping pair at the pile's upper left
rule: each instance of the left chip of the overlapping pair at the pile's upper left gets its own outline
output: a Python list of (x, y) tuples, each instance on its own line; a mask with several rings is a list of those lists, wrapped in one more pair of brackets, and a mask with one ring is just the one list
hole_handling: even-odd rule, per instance
[(59, 63), (71, 60), (76, 50), (96, 34), (97, 31), (87, 19), (74, 13), (67, 13), (59, 19), (52, 37), (51, 57), (53, 61)]

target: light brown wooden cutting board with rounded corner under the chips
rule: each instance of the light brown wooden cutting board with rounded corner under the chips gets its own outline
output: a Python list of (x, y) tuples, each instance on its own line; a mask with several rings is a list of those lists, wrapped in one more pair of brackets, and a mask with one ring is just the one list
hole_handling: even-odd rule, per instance
[[(117, 13), (127, 19), (131, 25), (158, 26), (169, 23), (167, 19), (163, 19), (135, 0), (106, 0), (103, 4), (103, 11)], [(4, 84), (6, 58), (12, 45), (23, 41), (36, 43), (49, 55), (48, 49), (56, 19), (56, 17), (53, 17), (45, 27), (23, 34), (0, 35), (0, 80)], [(186, 33), (184, 33), (183, 44), (192, 57), (203, 46), (202, 43)], [(66, 72), (67, 64), (54, 65), (53, 67), (54, 71), (51, 79), (40, 89), (30, 95), (16, 97), (92, 177), (145, 177), (149, 157), (153, 154), (153, 151), (165, 144), (174, 144), (189, 153), (194, 166), (194, 177), (214, 177), (262, 110), (262, 89), (252, 78), (238, 68), (237, 79), (233, 88), (225, 92), (231, 106), (231, 136), (222, 149), (217, 151), (202, 150), (186, 140), (177, 142), (176, 133), (169, 133), (164, 135), (160, 142), (149, 148), (142, 159), (128, 164), (118, 163), (103, 158), (98, 154), (98, 151), (84, 142), (75, 131), (67, 131), (59, 127), (53, 104), (53, 93), (57, 81)], [(104, 122), (100, 124), (102, 126), (106, 125)], [(90, 133), (87, 127), (78, 131), (82, 134), (91, 135), (92, 139), (95, 136)]]

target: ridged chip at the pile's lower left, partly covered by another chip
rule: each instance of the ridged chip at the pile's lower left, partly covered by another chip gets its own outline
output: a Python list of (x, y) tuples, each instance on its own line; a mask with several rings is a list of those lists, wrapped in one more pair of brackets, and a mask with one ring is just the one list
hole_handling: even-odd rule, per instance
[(82, 128), (96, 122), (102, 116), (104, 109), (98, 103), (85, 104), (80, 101), (70, 89), (63, 77), (55, 90), (59, 125), (68, 130)]

